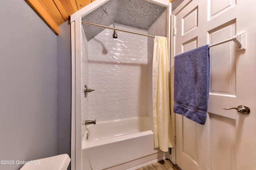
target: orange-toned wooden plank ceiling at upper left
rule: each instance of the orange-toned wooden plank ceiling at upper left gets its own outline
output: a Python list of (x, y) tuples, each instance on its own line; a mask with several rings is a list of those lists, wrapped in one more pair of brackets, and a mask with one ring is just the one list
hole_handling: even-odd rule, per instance
[[(25, 0), (55, 34), (72, 14), (95, 0)], [(172, 2), (173, 0), (170, 0)]]

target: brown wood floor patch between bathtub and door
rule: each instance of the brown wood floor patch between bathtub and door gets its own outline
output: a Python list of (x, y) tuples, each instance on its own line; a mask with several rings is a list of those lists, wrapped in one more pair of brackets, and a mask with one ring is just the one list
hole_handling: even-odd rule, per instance
[(144, 166), (137, 170), (181, 170), (177, 165), (174, 165), (170, 160), (165, 159), (153, 164)]

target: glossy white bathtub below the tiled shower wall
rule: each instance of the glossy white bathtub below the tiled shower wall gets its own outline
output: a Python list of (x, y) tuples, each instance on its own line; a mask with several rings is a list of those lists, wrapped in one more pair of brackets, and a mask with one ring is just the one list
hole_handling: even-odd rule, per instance
[(152, 128), (148, 116), (86, 125), (82, 170), (132, 170), (166, 158), (168, 153), (154, 148)]

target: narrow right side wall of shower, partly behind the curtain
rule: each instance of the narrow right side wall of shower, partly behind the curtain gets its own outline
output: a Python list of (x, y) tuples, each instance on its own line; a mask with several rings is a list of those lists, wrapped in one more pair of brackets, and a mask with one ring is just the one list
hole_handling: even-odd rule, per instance
[[(167, 10), (148, 28), (148, 34), (155, 36), (167, 36)], [(152, 101), (152, 61), (154, 53), (154, 39), (148, 38), (148, 115), (153, 118)]]

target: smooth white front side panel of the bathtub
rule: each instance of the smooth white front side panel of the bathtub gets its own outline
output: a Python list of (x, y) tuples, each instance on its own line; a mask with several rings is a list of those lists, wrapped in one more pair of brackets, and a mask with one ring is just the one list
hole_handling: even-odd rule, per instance
[[(157, 153), (151, 130), (126, 135), (125, 139), (82, 151), (83, 169), (102, 170)], [(100, 163), (99, 163), (100, 162)]]

